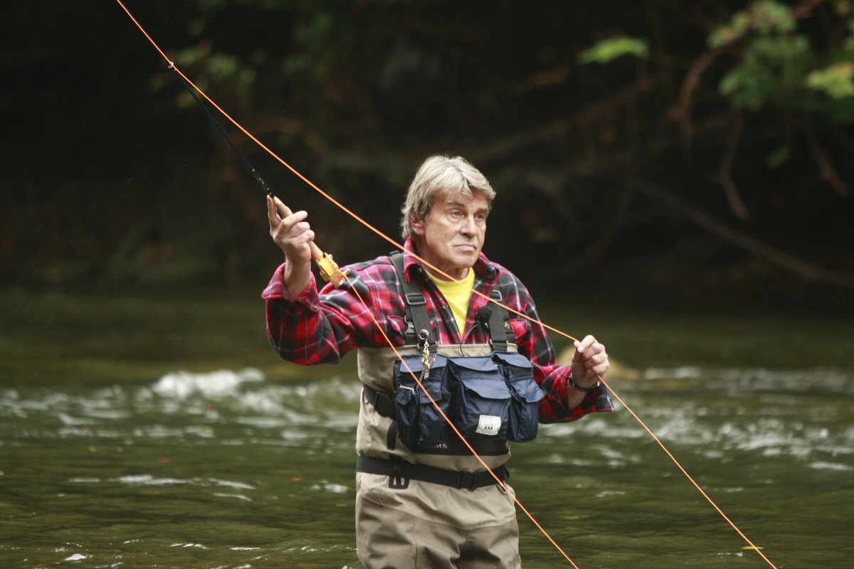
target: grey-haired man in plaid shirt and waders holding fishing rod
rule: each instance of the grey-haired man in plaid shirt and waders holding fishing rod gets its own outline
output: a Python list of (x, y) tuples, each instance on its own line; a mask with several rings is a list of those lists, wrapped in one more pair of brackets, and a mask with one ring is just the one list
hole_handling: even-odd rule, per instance
[(528, 290), (481, 253), (494, 196), (464, 159), (430, 157), (402, 209), (406, 251), (352, 264), (346, 282), (321, 291), (307, 213), (267, 199), (286, 258), (263, 293), (272, 346), (304, 365), (357, 351), (356, 543), (367, 569), (521, 566), (513, 491), (497, 483), (510, 443), (533, 440), (538, 422), (613, 410), (605, 346), (588, 335), (569, 367), (557, 365)]

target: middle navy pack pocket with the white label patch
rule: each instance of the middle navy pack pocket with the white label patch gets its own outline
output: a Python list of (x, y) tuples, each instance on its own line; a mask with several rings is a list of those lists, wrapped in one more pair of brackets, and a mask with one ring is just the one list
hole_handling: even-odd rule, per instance
[(510, 391), (490, 357), (449, 357), (455, 422), (465, 438), (506, 440)]

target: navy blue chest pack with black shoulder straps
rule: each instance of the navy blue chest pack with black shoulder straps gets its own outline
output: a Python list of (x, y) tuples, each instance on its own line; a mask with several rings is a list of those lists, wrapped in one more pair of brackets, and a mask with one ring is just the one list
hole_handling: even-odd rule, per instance
[[(491, 354), (438, 354), (424, 293), (414, 279), (407, 282), (403, 254), (392, 253), (390, 258), (406, 295), (406, 345), (417, 345), (421, 352), (395, 363), (395, 418), (403, 444), (429, 451), (456, 441), (442, 413), (471, 441), (534, 440), (545, 392), (534, 380), (529, 359), (507, 350), (516, 338), (506, 308), (493, 303), (477, 318), (478, 325), (488, 328)], [(500, 291), (496, 289), (493, 298), (500, 302)], [(465, 345), (460, 348), (464, 353)]]

